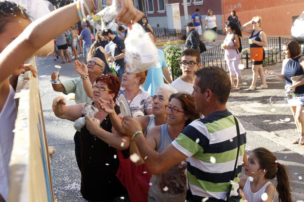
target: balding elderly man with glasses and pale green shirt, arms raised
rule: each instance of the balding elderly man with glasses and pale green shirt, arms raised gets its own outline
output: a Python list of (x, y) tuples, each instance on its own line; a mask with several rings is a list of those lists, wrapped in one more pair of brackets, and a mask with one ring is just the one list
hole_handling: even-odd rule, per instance
[[(64, 94), (75, 93), (75, 102), (87, 103), (92, 101), (92, 95), (88, 97), (84, 88), (88, 86), (92, 90), (92, 84), (96, 84), (95, 79), (103, 74), (105, 70), (105, 63), (100, 58), (91, 58), (90, 61), (87, 61), (87, 66), (84, 63), (80, 63), (78, 60), (75, 61), (75, 70), (78, 72), (80, 77), (70, 79), (67, 81), (60, 82), (59, 84), (53, 84), (52, 87), (54, 91), (63, 92)], [(59, 80), (60, 74), (58, 74)], [(56, 72), (54, 71), (51, 75), (52, 80), (56, 79)], [(93, 91), (93, 90), (92, 90)], [(81, 171), (81, 159), (80, 159), (80, 133), (76, 131), (74, 135), (75, 141), (75, 155), (79, 170)]]

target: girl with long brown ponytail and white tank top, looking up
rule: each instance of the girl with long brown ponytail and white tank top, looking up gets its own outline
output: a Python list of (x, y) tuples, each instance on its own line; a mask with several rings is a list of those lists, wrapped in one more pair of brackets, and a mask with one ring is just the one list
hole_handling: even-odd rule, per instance
[(260, 147), (254, 149), (245, 166), (245, 175), (238, 182), (243, 200), (248, 202), (271, 202), (275, 195), (275, 186), (268, 180), (277, 177), (277, 192), (279, 202), (291, 202), (288, 172), (275, 155)]

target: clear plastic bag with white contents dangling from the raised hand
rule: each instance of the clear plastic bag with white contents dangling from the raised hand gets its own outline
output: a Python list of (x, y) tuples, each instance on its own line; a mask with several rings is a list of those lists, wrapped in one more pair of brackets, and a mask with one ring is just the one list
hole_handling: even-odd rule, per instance
[(131, 72), (143, 72), (158, 62), (158, 51), (149, 34), (138, 23), (128, 30), (125, 58)]

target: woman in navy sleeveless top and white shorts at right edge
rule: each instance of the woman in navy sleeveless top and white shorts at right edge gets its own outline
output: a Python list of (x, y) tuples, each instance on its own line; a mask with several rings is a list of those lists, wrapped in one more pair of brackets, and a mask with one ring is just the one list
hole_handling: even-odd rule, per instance
[[(287, 99), (288, 105), (295, 119), (295, 125), (298, 129), (297, 139), (292, 144), (304, 145), (304, 57), (301, 55), (301, 49), (298, 41), (291, 39), (283, 45), (283, 55), (285, 59), (282, 63), (281, 74), (266, 70), (267, 75), (275, 75), (277, 78), (286, 81), (285, 91), (294, 93), (294, 97)], [(291, 95), (291, 94), (287, 94)], [(292, 96), (290, 96), (292, 97)]]

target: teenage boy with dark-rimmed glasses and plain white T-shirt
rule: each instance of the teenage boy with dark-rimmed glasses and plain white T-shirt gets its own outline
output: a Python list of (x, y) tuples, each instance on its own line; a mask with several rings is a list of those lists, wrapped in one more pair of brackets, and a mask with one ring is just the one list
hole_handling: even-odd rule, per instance
[(192, 94), (195, 81), (194, 71), (201, 67), (201, 58), (199, 53), (193, 49), (186, 49), (181, 53), (181, 62), (179, 63), (183, 74), (174, 80), (170, 85), (178, 92)]

